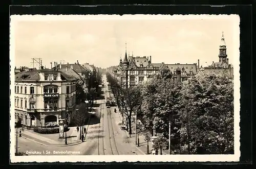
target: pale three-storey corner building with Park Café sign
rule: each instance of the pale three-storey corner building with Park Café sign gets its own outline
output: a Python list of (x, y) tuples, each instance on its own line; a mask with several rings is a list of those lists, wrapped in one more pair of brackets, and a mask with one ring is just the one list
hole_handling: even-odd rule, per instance
[(57, 126), (75, 111), (75, 79), (61, 71), (39, 69), (15, 75), (15, 122), (24, 126)]

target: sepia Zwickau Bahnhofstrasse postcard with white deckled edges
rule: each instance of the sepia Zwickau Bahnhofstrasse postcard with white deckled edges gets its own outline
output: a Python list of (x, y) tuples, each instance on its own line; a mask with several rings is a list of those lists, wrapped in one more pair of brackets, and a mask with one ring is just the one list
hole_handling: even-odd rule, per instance
[(239, 161), (238, 15), (12, 15), (11, 162)]

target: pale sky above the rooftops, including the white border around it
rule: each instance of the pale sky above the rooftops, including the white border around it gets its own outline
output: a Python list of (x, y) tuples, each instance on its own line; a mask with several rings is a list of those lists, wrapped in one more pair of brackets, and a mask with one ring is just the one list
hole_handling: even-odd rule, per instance
[[(229, 63), (239, 59), (236, 15), (15, 15), (10, 50), (16, 67), (32, 67), (31, 58), (50, 62), (118, 65), (127, 54), (152, 56), (152, 63), (207, 66), (218, 62), (224, 32)], [(206, 63), (207, 62), (207, 63)]]

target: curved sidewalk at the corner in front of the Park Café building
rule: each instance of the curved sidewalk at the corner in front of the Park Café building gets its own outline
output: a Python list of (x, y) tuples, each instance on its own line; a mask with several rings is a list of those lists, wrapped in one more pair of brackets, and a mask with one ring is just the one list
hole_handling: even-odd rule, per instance
[[(19, 129), (20, 130), (20, 129)], [(19, 131), (18, 130), (18, 131)], [(64, 133), (65, 134), (65, 133)], [(67, 142), (65, 144), (65, 138), (59, 138), (59, 133), (56, 134), (39, 134), (33, 130), (24, 129), (22, 131), (22, 137), (27, 138), (31, 141), (37, 142), (44, 146), (73, 146), (75, 144), (81, 143), (79, 139), (80, 132), (76, 131), (76, 127), (71, 127), (67, 132)]]

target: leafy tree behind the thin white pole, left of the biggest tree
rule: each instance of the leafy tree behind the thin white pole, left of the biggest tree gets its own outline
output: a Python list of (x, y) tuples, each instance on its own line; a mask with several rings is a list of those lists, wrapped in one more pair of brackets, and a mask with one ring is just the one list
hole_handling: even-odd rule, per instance
[(178, 129), (178, 106), (181, 83), (170, 79), (148, 81), (142, 90), (142, 117), (150, 130), (153, 126), (158, 133), (168, 138), (169, 122), (171, 123), (172, 147), (178, 149), (180, 134)]

